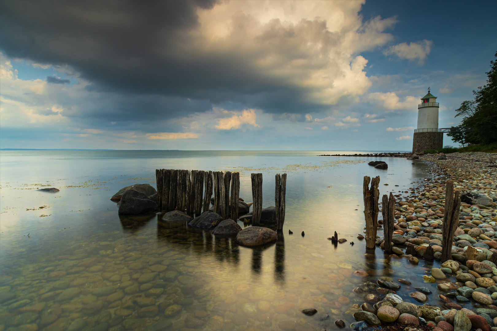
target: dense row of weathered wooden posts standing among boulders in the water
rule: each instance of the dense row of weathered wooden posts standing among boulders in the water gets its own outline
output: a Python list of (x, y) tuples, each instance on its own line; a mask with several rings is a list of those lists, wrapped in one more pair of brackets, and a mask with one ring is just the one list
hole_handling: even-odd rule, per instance
[[(262, 174), (252, 181), (252, 225), (259, 225), (262, 212)], [(214, 211), (223, 219), (238, 219), (240, 173), (231, 171), (156, 169), (157, 204), (161, 210), (180, 210), (199, 216), (209, 211), (214, 194)], [(285, 222), (286, 174), (276, 174), (274, 202), (276, 229)]]

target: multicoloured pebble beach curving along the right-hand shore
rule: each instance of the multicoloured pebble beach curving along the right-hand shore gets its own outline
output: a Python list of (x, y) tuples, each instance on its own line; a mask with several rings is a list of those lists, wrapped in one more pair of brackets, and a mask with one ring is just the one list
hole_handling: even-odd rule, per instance
[[(438, 265), (436, 261), (440, 259), (442, 251), (441, 229), (447, 179), (453, 180), (455, 190), (461, 193), (476, 192), (465, 198), (468, 202), (472, 195), (478, 194), (491, 199), (482, 198), (481, 201), (486, 201), (486, 205), (462, 202), (460, 223), (451, 252), (452, 260), (431, 270), (426, 265), (421, 266), (426, 269), (424, 282), (437, 284), (440, 293), (437, 304), (425, 303), (428, 301), (426, 294), (431, 294), (426, 287), (416, 287), (417, 291), (410, 294), (410, 297), (420, 302), (419, 305), (404, 302), (395, 291), (401, 288), (401, 284), (410, 285), (411, 282), (398, 279), (399, 284), (380, 278), (377, 284), (365, 282), (354, 289), (356, 294), (364, 294), (366, 302), (356, 307), (354, 318), (359, 322), (350, 327), (361, 331), (367, 325), (385, 327), (394, 323), (401, 329), (411, 326), (405, 330), (414, 330), (412, 325), (416, 325), (431, 327), (433, 331), (497, 331), (497, 154), (392, 153), (353, 156), (398, 156), (432, 163), (435, 176), (426, 178), (422, 188), (404, 191), (410, 195), (405, 197), (405, 201), (398, 199), (395, 208), (397, 222), (392, 238), (393, 251), (397, 256), (409, 259), (413, 266), (423, 262), (423, 258), (427, 261), (434, 258), (433, 266)], [(376, 244), (383, 248), (383, 238), (377, 236)], [(427, 247), (431, 247), (428, 250), (430, 254), (423, 257)], [(406, 252), (404, 248), (407, 248)], [(356, 270), (355, 273), (368, 275), (364, 270)], [(473, 308), (463, 308), (465, 304)], [(341, 323), (336, 321), (335, 324), (340, 326)]]

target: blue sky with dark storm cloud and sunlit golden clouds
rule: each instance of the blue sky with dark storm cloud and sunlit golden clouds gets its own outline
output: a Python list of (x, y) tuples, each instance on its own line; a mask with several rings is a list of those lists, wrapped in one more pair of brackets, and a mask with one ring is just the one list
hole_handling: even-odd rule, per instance
[(496, 13), (494, 0), (0, 0), (0, 148), (412, 150), (428, 86), (448, 128), (485, 84)]

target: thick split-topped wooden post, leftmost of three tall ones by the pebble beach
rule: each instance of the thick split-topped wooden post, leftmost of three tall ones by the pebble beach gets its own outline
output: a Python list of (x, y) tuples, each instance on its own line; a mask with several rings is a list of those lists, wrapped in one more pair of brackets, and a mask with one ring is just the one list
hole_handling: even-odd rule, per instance
[[(371, 188), (369, 182), (371, 181)], [(364, 218), (366, 220), (366, 248), (375, 248), (376, 230), (378, 229), (378, 199), (380, 191), (380, 176), (371, 180), (369, 176), (364, 176), (362, 193), (364, 195)]]

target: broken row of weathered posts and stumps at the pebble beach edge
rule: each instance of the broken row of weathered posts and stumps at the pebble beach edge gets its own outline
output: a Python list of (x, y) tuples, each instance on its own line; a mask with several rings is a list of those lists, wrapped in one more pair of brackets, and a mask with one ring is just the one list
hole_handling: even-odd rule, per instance
[[(369, 183), (371, 182), (371, 187)], [(378, 199), (380, 191), (378, 185), (380, 184), (380, 176), (371, 180), (369, 176), (364, 176), (363, 182), (363, 196), (364, 196), (364, 218), (366, 220), (366, 248), (374, 249), (376, 242), (376, 232), (378, 229)], [(443, 263), (451, 260), (452, 242), (457, 226), (459, 225), (459, 206), (461, 205), (460, 192), (454, 192), (454, 181), (448, 180), (446, 182), (445, 192), (445, 212), (442, 224), (442, 255), (440, 261)], [(392, 236), (394, 232), (395, 223), (395, 202), (396, 199), (390, 193), (390, 197), (383, 196), (382, 199), (382, 216), (383, 216), (383, 230), (384, 230), (384, 250), (387, 254), (392, 254)], [(414, 246), (411, 243), (406, 243), (406, 255), (415, 254)], [(470, 254), (472, 252), (470, 251)], [(497, 260), (497, 253), (494, 253)], [(433, 249), (431, 246), (426, 248), (423, 255), (425, 260), (433, 260)], [(493, 257), (494, 258), (494, 257)]]

